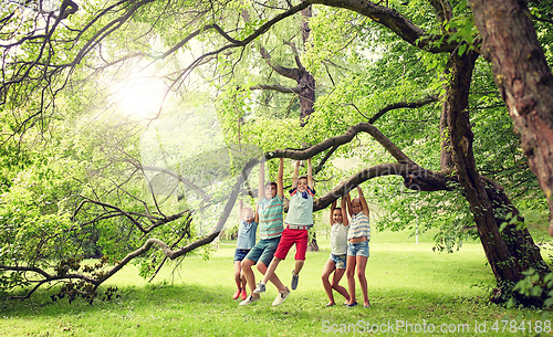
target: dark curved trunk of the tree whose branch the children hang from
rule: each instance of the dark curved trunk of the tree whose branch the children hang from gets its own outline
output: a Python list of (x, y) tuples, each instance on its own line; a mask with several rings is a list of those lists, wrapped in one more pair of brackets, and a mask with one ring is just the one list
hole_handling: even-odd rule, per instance
[(473, 52), (459, 56), (457, 51), (450, 55), (448, 83), (444, 114), (451, 137), (451, 155), (459, 182), (477, 225), (480, 241), (488, 262), (498, 281), (495, 301), (504, 301), (511, 294), (520, 303), (535, 304), (533, 298), (514, 294), (512, 288), (522, 280), (523, 271), (533, 267), (544, 274), (547, 267), (526, 229), (517, 230), (499, 227), (509, 221), (508, 213), (518, 217), (519, 211), (502, 191), (502, 188), (484, 180), (477, 171), (472, 151), (473, 134), (469, 123), (468, 96), (472, 70), (478, 54)]

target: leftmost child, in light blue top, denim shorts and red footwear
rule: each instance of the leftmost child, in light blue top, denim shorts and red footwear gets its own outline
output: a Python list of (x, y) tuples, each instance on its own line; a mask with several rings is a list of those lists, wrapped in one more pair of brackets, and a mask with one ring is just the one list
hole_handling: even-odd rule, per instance
[(255, 231), (258, 223), (253, 218), (253, 210), (249, 207), (243, 207), (243, 201), (240, 200), (240, 224), (238, 227), (237, 250), (234, 251), (234, 281), (237, 283), (237, 292), (233, 299), (238, 297), (246, 299), (246, 277), (242, 273), (242, 260), (255, 244)]

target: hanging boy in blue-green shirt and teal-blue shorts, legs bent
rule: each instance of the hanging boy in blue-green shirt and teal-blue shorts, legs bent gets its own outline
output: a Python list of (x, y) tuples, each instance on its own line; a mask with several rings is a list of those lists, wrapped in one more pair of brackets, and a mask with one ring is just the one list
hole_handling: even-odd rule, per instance
[[(249, 305), (253, 302), (260, 299), (259, 294), (254, 294), (255, 288), (255, 275), (251, 266), (259, 262), (258, 270), (261, 274), (265, 274), (267, 266), (271, 263), (273, 259), (274, 251), (279, 246), (279, 242), (282, 235), (282, 202), (284, 201), (284, 191), (282, 185), (282, 173), (284, 170), (284, 159), (280, 159), (279, 175), (276, 177), (276, 182), (268, 182), (264, 185), (264, 164), (261, 162), (259, 170), (259, 202), (255, 212), (255, 222), (259, 223), (259, 238), (261, 240), (251, 249), (251, 251), (246, 255), (242, 262), (242, 271), (246, 276), (248, 286), (250, 287), (251, 295), (244, 301), (240, 302), (240, 305)], [(264, 189), (264, 196), (262, 194)], [(290, 294), (288, 287), (285, 287), (279, 280), (276, 274), (272, 274), (269, 280), (276, 286), (279, 294), (276, 299), (274, 299), (273, 305), (281, 304)]]

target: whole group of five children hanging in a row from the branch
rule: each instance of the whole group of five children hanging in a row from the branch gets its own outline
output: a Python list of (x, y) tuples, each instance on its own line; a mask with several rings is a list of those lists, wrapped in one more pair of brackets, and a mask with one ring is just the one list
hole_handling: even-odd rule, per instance
[[(280, 158), (276, 182), (264, 183), (264, 164), (259, 172), (259, 201), (255, 212), (251, 208), (243, 208), (240, 201), (240, 225), (238, 242), (234, 253), (234, 280), (237, 292), (234, 299), (240, 297), (240, 305), (249, 305), (261, 298), (269, 281), (279, 289), (273, 305), (280, 305), (290, 294), (290, 289), (280, 281), (275, 271), (279, 263), (284, 260), (290, 249), (295, 244), (295, 267), (292, 271), (290, 287), (295, 289), (299, 284), (300, 271), (305, 262), (307, 250), (307, 230), (313, 225), (313, 197), (315, 196), (311, 159), (307, 159), (307, 176), (299, 177), (300, 160), (294, 168), (292, 189), (290, 190), (290, 206), (286, 219), (283, 221), (282, 208), (284, 191), (282, 176), (284, 159)], [(331, 256), (325, 263), (322, 274), (324, 289), (328, 296), (328, 304), (333, 306), (333, 289), (340, 293), (348, 307), (357, 306), (355, 297), (355, 275), (361, 284), (363, 302), (366, 308), (371, 303), (367, 295), (367, 280), (365, 268), (369, 255), (368, 241), (371, 241), (371, 227), (368, 221), (368, 207), (361, 187), (357, 187), (358, 198), (351, 199), (349, 193), (331, 207)], [(347, 209), (347, 211), (346, 211)], [(348, 214), (352, 220), (348, 220)], [(259, 227), (260, 240), (255, 243), (255, 231)], [(255, 285), (252, 266), (263, 274), (263, 280)], [(357, 270), (357, 272), (355, 272)], [(332, 282), (330, 275), (334, 272)], [(340, 285), (344, 275), (347, 277), (347, 289)], [(249, 287), (248, 296), (246, 286)]]

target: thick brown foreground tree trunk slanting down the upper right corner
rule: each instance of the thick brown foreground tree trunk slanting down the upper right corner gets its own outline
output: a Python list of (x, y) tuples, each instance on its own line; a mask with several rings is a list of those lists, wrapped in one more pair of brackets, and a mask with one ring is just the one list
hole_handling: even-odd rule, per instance
[(538, 41), (526, 1), (469, 0), (491, 61), (495, 84), (538, 177), (553, 225), (553, 75)]

